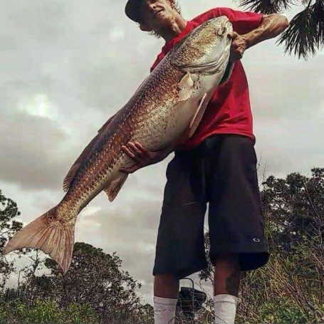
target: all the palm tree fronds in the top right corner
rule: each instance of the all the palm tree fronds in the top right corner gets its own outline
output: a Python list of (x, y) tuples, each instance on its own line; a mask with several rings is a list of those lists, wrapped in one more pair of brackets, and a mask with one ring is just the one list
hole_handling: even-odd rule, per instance
[(246, 9), (263, 14), (281, 14), (291, 6), (303, 10), (291, 20), (278, 43), (285, 43), (285, 53), (298, 58), (315, 55), (324, 43), (324, 0), (239, 0)]

